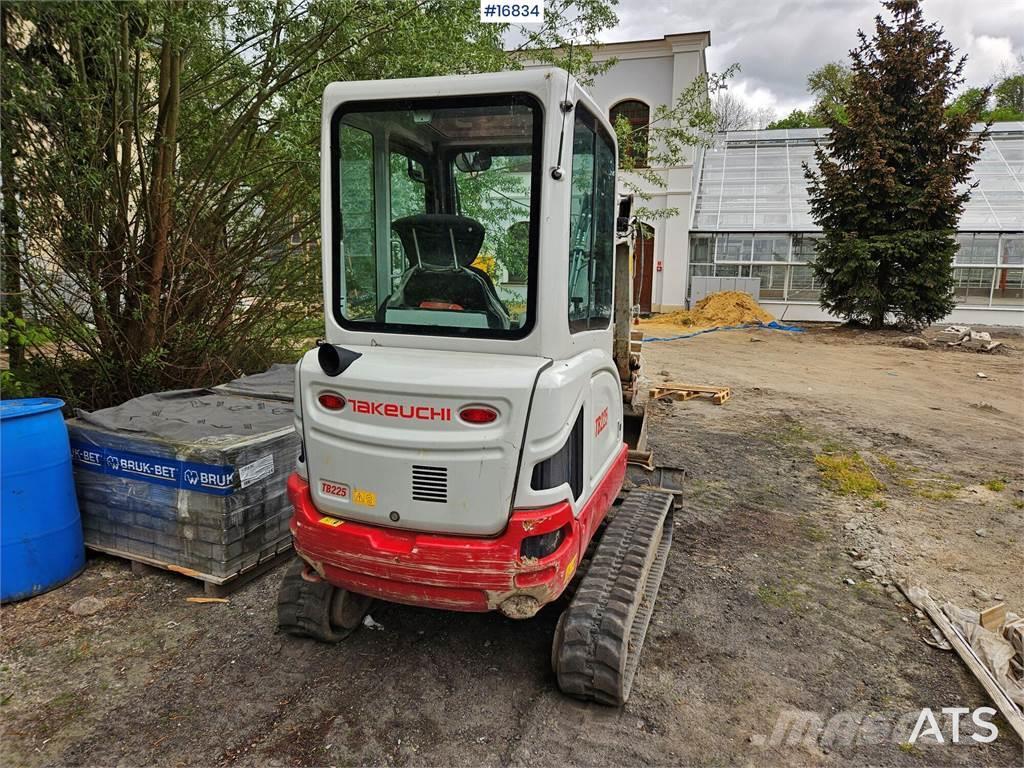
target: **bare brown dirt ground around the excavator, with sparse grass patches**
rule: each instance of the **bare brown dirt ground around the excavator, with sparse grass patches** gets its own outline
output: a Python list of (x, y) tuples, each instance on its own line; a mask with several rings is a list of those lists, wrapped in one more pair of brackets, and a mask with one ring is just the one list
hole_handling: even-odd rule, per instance
[[(989, 702), (955, 654), (924, 642), (930, 625), (892, 582), (1024, 613), (1024, 354), (896, 338), (736, 331), (645, 345), (652, 383), (733, 396), (650, 409), (655, 461), (682, 497), (622, 711), (558, 693), (557, 605), (514, 622), (378, 604), (380, 629), (327, 646), (275, 633), (284, 568), (228, 603), (194, 604), (186, 579), (94, 557), (0, 611), (0, 760), (1020, 766), (999, 718), (991, 743), (966, 735), (969, 718), (950, 743), (941, 708)], [(815, 457), (854, 453), (883, 489), (822, 484)], [(86, 596), (102, 607), (72, 613)], [(926, 707), (946, 741), (910, 745)]]

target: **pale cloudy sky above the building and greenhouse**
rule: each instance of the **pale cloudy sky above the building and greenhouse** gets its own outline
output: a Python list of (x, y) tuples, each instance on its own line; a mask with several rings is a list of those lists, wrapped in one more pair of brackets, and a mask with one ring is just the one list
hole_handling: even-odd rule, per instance
[[(968, 55), (967, 85), (984, 85), (1024, 55), (1024, 0), (924, 0), (925, 16)], [(858, 29), (870, 34), (877, 0), (620, 0), (603, 42), (711, 30), (708, 68), (738, 62), (729, 90), (779, 117), (807, 109), (807, 74), (846, 60)]]

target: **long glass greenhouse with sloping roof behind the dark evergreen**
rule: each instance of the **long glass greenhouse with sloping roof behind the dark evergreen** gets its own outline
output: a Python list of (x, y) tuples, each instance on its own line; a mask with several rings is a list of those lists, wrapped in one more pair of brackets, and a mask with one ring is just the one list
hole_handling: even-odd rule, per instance
[[(983, 126), (976, 126), (981, 130)], [(816, 305), (804, 163), (818, 128), (731, 131), (703, 154), (689, 276), (759, 278), (761, 300)], [(1024, 309), (1024, 123), (996, 123), (974, 166), (953, 262), (959, 308)], [(692, 281), (687, 281), (692, 285)], [(1019, 321), (1009, 321), (1017, 323)]]

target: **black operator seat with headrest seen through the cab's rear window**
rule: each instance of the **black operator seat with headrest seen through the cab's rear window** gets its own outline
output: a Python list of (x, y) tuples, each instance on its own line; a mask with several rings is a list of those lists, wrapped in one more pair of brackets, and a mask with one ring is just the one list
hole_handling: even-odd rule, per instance
[(488, 328), (508, 329), (508, 310), (490, 278), (472, 266), (483, 245), (483, 225), (468, 216), (425, 213), (391, 222), (409, 269), (381, 304), (378, 322), (388, 308), (450, 309), (483, 312)]

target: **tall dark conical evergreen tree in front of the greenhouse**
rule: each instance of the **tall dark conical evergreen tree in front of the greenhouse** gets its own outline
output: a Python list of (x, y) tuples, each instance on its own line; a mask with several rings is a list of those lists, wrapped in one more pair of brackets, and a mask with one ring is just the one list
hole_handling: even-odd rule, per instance
[(927, 24), (919, 0), (885, 0), (850, 52), (847, 123), (826, 116), (829, 145), (807, 169), (811, 212), (821, 226), (814, 271), (821, 306), (882, 328), (922, 326), (948, 314), (963, 186), (984, 135), (977, 110), (947, 115), (966, 57)]

